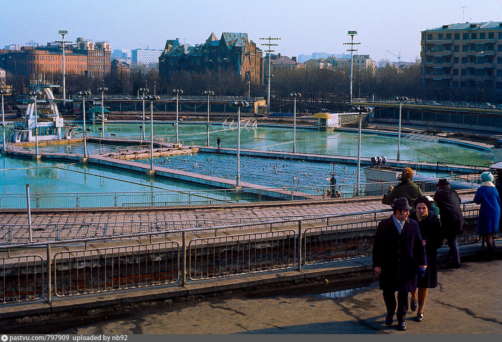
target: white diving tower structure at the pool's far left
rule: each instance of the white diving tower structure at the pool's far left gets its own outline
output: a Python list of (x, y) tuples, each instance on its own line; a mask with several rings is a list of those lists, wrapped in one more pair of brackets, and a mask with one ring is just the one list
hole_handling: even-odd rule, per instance
[[(16, 123), (13, 132), (9, 134), (12, 142), (35, 141), (36, 138), (39, 141), (71, 138), (72, 131), (78, 126), (65, 126), (51, 90), (56, 87), (59, 85), (45, 80), (30, 81), (30, 90), (41, 92), (42, 95), (37, 97), (36, 105), (34, 96), (18, 97), (19, 102), (27, 103), (28, 106), (23, 121)], [(35, 108), (37, 113), (35, 113)]]

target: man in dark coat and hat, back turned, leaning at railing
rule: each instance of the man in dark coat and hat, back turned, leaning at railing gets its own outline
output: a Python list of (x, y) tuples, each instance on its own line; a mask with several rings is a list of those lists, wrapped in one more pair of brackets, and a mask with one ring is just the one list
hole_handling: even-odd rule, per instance
[(455, 190), (450, 189), (448, 180), (440, 179), (436, 184), (438, 191), (434, 194), (434, 202), (439, 208), (439, 220), (446, 243), (449, 247), (452, 268), (460, 267), (460, 256), (458, 254), (457, 235), (462, 230), (464, 217), (460, 208), (460, 196)]

